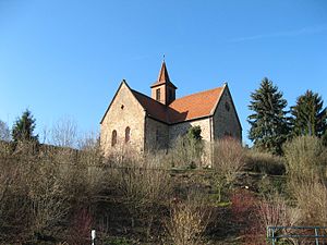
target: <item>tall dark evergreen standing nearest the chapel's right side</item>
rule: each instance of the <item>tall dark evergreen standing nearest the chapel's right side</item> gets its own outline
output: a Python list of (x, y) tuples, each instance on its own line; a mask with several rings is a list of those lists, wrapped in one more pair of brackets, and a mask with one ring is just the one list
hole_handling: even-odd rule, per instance
[(254, 113), (247, 118), (251, 124), (249, 138), (256, 148), (281, 155), (281, 146), (289, 133), (288, 112), (284, 110), (287, 100), (267, 77), (263, 78), (251, 98), (249, 108)]

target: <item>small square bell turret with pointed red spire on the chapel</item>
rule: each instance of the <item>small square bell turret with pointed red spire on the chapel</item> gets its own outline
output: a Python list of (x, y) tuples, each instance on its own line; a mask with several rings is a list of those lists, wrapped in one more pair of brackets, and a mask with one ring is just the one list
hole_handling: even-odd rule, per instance
[(164, 103), (169, 105), (175, 99), (177, 87), (171, 83), (166, 66), (165, 58), (159, 71), (158, 79), (150, 86), (152, 98)]

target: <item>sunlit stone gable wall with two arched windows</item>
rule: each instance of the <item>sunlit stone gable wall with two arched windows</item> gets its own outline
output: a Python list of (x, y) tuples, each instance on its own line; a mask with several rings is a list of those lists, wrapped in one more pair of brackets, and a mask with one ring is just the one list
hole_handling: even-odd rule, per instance
[[(100, 126), (100, 143), (105, 155), (133, 149), (144, 151), (145, 111), (125, 83), (122, 83)], [(130, 140), (125, 143), (125, 128)], [(117, 145), (111, 146), (112, 131), (117, 131)]]

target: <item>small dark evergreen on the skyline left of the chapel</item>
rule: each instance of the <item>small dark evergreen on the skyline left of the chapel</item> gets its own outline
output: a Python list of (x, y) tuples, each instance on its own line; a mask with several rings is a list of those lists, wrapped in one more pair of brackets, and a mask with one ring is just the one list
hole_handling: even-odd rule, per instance
[(22, 117), (19, 118), (12, 127), (12, 138), (14, 143), (17, 142), (36, 142), (38, 143), (38, 135), (34, 135), (35, 119), (33, 118), (29, 110), (23, 112)]

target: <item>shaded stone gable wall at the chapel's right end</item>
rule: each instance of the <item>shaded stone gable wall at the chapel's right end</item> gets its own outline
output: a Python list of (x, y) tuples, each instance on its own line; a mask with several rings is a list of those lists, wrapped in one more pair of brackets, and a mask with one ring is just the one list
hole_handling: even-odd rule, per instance
[(242, 142), (242, 128), (228, 87), (223, 90), (214, 114), (215, 140), (226, 136), (231, 136)]

